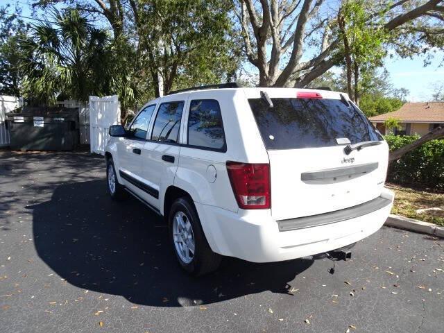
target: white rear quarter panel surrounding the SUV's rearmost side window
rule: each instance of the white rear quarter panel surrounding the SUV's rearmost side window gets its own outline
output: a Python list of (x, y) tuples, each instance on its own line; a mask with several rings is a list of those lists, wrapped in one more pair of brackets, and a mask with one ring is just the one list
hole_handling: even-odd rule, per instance
[[(219, 102), (225, 133), (226, 152), (191, 148), (187, 144), (187, 119), (191, 101), (214, 99)], [(237, 212), (226, 169), (227, 161), (268, 163), (268, 155), (250, 112), (243, 89), (217, 89), (192, 92), (185, 108), (179, 167), (174, 185), (187, 191), (194, 201)], [(209, 170), (210, 168), (210, 170)], [(212, 179), (211, 168), (216, 170)]]

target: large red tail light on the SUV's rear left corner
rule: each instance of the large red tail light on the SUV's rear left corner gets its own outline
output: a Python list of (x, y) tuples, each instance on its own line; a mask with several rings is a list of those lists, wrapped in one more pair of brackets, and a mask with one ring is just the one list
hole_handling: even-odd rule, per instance
[(228, 176), (239, 208), (270, 208), (270, 165), (227, 162)]

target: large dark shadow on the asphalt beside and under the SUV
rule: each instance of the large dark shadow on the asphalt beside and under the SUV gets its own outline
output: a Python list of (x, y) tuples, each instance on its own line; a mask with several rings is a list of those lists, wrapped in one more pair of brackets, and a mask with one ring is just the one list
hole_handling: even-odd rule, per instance
[(139, 201), (112, 201), (105, 180), (60, 185), (28, 206), (38, 255), (76, 287), (159, 307), (204, 305), (252, 293), (289, 293), (311, 266), (298, 259), (253, 264), (225, 258), (216, 273), (191, 278), (176, 262), (162, 219)]

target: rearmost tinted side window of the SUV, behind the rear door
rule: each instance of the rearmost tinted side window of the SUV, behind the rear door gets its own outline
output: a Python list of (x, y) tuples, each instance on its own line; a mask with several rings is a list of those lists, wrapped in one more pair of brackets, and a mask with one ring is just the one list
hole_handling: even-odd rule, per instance
[(216, 151), (225, 150), (221, 108), (214, 99), (191, 101), (188, 116), (188, 144)]

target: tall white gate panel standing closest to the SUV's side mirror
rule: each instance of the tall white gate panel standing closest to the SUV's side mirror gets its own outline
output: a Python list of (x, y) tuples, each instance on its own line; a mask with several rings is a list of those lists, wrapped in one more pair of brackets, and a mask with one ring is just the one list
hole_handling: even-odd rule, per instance
[(120, 123), (120, 103), (117, 95), (89, 96), (89, 130), (91, 153), (105, 155), (105, 145), (111, 125)]

